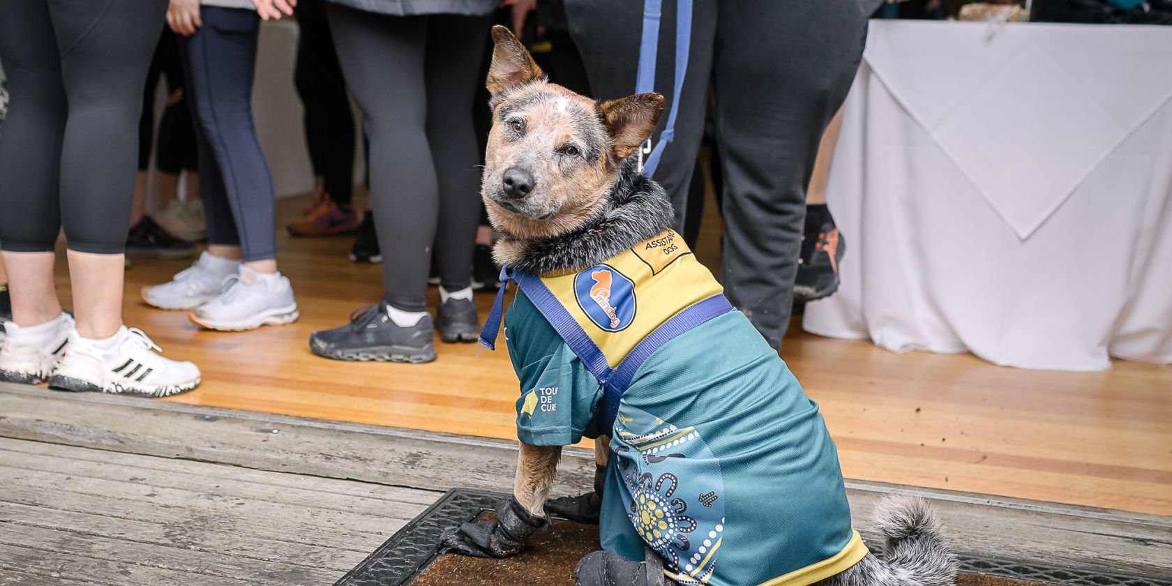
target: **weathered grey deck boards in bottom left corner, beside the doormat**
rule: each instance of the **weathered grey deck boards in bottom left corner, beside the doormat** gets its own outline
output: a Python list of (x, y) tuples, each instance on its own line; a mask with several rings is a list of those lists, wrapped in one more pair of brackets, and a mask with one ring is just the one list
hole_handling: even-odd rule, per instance
[(441, 493), (0, 438), (0, 584), (333, 584)]

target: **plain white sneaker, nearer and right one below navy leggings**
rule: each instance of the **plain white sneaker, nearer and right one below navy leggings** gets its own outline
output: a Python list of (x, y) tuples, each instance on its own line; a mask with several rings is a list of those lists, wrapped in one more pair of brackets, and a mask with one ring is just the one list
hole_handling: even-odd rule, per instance
[(222, 332), (280, 326), (300, 316), (288, 279), (281, 273), (264, 274), (246, 266), (240, 266), (239, 275), (224, 281), (219, 297), (196, 307), (189, 315), (191, 321)]

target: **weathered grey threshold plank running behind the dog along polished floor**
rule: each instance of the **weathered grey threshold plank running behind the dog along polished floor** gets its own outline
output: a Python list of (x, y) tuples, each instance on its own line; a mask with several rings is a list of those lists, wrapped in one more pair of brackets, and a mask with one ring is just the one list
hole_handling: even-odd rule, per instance
[[(122, 397), (61, 398), (28, 389), (0, 391), (0, 413), (6, 414), (0, 416), (0, 436), (428, 490), (507, 492), (517, 457), (512, 442), (488, 438)], [(21, 450), (29, 457), (38, 454), (33, 447)], [(571, 473), (560, 475), (554, 495), (579, 493), (591, 485), (591, 454), (567, 452), (563, 469)], [(89, 464), (83, 468), (90, 476), (103, 476)], [(973, 556), (1172, 574), (1168, 517), (850, 481), (847, 493), (863, 532), (870, 531), (873, 503), (891, 492), (932, 499), (958, 548)]]

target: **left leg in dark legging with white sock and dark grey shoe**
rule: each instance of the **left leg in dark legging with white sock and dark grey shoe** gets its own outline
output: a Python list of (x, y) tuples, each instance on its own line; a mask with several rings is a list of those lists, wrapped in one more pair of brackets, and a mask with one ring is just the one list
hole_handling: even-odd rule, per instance
[(309, 348), (335, 360), (430, 362), (428, 268), (438, 188), (425, 131), (428, 16), (384, 16), (327, 6), (338, 57), (370, 139), (367, 169), (386, 295), (350, 323), (314, 332)]

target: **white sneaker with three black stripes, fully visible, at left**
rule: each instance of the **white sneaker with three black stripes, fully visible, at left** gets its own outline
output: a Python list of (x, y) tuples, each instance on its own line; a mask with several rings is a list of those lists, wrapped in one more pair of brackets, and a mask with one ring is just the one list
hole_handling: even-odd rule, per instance
[(49, 388), (169, 397), (199, 386), (196, 364), (165, 359), (159, 352), (138, 328), (122, 326), (107, 340), (81, 338), (74, 329)]

